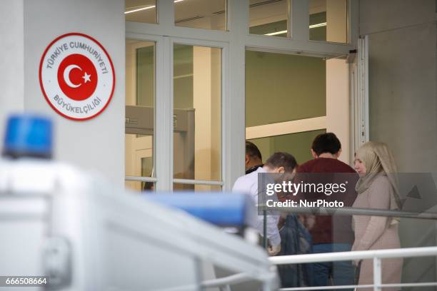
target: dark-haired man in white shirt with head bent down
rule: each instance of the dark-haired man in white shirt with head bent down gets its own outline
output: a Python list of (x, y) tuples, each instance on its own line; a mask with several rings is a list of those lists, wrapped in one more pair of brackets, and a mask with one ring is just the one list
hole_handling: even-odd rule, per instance
[[(289, 153), (273, 153), (270, 158), (260, 167), (243, 175), (233, 184), (232, 191), (251, 195), (258, 204), (258, 173), (293, 173), (297, 163), (293, 155)], [(268, 254), (276, 255), (281, 250), (281, 235), (278, 230), (279, 215), (267, 215), (266, 235), (268, 239)], [(251, 222), (251, 226), (256, 228), (263, 235), (263, 215), (257, 215), (256, 220)]]

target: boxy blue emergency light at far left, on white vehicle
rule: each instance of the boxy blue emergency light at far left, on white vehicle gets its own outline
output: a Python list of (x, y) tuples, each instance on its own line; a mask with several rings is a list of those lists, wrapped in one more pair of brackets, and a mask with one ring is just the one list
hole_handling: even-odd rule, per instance
[(3, 155), (10, 158), (51, 158), (53, 125), (49, 118), (30, 114), (9, 116)]

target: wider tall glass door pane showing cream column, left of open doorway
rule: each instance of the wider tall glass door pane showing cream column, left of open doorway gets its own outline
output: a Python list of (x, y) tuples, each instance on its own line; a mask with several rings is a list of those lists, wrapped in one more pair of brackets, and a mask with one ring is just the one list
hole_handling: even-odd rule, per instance
[(173, 189), (221, 190), (223, 49), (172, 39)]

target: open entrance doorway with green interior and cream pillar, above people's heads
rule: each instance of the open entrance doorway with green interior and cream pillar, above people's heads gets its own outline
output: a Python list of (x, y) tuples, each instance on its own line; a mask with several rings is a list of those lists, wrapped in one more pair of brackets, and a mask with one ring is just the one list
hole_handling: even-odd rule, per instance
[(246, 140), (266, 160), (285, 151), (312, 158), (313, 138), (331, 131), (349, 160), (348, 63), (345, 59), (246, 51)]

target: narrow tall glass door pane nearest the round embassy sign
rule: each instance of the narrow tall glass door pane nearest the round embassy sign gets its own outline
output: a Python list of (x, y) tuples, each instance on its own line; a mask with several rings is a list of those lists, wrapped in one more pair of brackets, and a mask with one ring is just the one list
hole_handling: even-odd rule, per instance
[(126, 39), (126, 186), (154, 190), (156, 41)]

